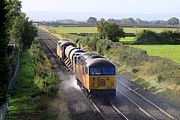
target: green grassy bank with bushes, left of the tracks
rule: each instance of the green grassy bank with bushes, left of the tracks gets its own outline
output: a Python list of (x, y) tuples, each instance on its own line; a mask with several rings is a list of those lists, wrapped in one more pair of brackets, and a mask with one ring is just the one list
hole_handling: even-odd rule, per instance
[(57, 75), (35, 41), (20, 54), (20, 70), (10, 99), (7, 120), (69, 119), (63, 97), (58, 92)]

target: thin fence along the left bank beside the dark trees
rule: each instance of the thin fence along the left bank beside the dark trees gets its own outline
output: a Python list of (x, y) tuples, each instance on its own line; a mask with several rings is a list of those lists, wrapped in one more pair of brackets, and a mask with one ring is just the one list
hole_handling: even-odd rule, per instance
[[(9, 81), (9, 85), (8, 85), (8, 93), (7, 93), (8, 94), (8, 99), (11, 96), (11, 93), (12, 93), (13, 88), (14, 88), (15, 83), (16, 83), (16, 78), (18, 76), (19, 52), (20, 52), (20, 50), (18, 50), (18, 56), (17, 56), (17, 60), (16, 60), (16, 69), (15, 69), (14, 75), (11, 78), (11, 80)], [(0, 106), (0, 120), (4, 120), (6, 118), (6, 112), (7, 112), (7, 109), (8, 109), (8, 103), (9, 103), (9, 100), (7, 100), (7, 102), (4, 103), (4, 105)]]

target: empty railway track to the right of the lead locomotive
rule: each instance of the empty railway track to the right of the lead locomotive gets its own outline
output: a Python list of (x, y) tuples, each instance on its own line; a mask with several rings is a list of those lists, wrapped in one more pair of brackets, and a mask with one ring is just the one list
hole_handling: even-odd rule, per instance
[(119, 80), (117, 82), (121, 84), (121, 87), (127, 89), (131, 94), (129, 92), (129, 94), (126, 92), (126, 94), (128, 95), (124, 95), (125, 92), (123, 94), (122, 90), (118, 90), (118, 92), (121, 95), (126, 96), (130, 101), (132, 101), (134, 104), (136, 104), (136, 106), (138, 106), (142, 111), (144, 111), (145, 114), (151, 116), (151, 118), (153, 118), (154, 120), (177, 120), (177, 118), (172, 116), (170, 113), (166, 112), (158, 105), (154, 104), (126, 84), (122, 83)]

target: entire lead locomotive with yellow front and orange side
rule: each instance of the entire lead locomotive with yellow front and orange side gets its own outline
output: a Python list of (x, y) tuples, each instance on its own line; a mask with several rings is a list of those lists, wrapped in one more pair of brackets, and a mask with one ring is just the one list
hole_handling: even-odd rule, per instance
[(77, 78), (89, 94), (115, 96), (115, 65), (96, 55), (92, 53), (78, 57), (76, 64)]

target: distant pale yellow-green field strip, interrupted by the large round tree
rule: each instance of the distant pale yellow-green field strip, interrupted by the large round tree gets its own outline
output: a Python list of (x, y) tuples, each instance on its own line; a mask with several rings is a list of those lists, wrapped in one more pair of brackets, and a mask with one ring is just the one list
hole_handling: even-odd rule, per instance
[[(97, 33), (96, 27), (47, 27), (57, 33)], [(137, 33), (142, 30), (152, 30), (157, 33), (163, 30), (177, 30), (176, 28), (123, 28), (126, 33)]]

